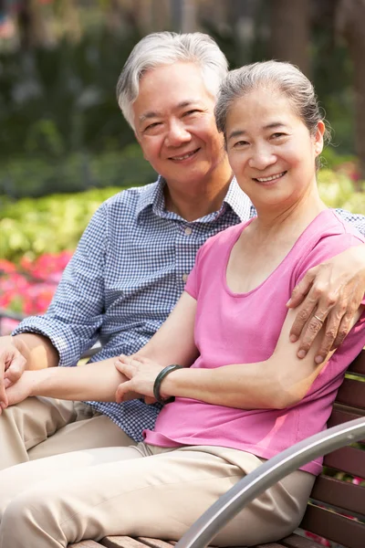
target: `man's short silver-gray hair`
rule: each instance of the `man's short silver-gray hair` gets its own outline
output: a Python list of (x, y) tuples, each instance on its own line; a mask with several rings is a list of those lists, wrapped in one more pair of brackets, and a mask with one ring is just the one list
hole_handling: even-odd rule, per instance
[[(202, 69), (206, 89), (216, 97), (219, 86), (227, 74), (228, 63), (214, 39), (201, 32), (152, 33), (133, 47), (117, 84), (118, 103), (132, 129), (132, 104), (138, 97), (143, 73), (151, 68), (172, 65), (178, 61), (196, 63)], [(161, 92), (163, 94), (163, 90)]]

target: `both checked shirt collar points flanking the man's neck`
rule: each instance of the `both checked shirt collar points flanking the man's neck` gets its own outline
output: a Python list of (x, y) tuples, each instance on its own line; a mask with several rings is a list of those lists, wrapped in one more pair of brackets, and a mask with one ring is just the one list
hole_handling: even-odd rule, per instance
[[(137, 204), (136, 213), (140, 216), (149, 205), (152, 206), (153, 212), (156, 215), (162, 215), (165, 206), (165, 200), (163, 195), (163, 187), (165, 181), (161, 175), (155, 183), (146, 184), (142, 188), (141, 195)], [(235, 176), (233, 177), (231, 184), (229, 185), (228, 192), (224, 197), (224, 204), (229, 205), (235, 214), (241, 221), (248, 220), (251, 216), (255, 215), (255, 208), (252, 205), (249, 197), (240, 188)], [(220, 214), (224, 211), (224, 204), (221, 207)]]

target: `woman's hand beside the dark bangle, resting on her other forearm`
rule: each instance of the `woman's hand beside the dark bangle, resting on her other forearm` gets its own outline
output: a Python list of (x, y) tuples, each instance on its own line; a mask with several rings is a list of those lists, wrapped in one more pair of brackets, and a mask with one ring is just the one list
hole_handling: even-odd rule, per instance
[(164, 365), (157, 364), (149, 358), (143, 358), (138, 354), (125, 356), (123, 354), (115, 362), (118, 371), (125, 374), (130, 380), (121, 383), (115, 393), (117, 403), (124, 401), (125, 396), (130, 392), (144, 395), (146, 404), (154, 403), (153, 385), (157, 375), (162, 371)]

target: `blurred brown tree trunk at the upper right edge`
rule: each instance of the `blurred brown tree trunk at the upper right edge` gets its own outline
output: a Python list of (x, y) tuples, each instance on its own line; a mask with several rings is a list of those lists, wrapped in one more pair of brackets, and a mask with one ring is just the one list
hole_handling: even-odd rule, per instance
[(365, 0), (340, 0), (337, 28), (345, 38), (354, 68), (355, 149), (365, 180)]

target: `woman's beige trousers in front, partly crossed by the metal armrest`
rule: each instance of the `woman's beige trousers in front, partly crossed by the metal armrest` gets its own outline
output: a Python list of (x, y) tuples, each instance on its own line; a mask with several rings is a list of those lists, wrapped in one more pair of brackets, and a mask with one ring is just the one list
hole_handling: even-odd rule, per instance
[[(229, 448), (97, 448), (0, 472), (0, 547), (60, 548), (132, 535), (179, 539), (255, 456)], [(216, 546), (266, 543), (292, 532), (314, 478), (297, 471), (247, 505)]]

